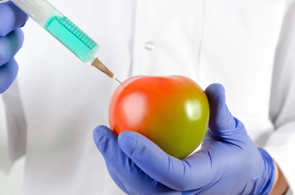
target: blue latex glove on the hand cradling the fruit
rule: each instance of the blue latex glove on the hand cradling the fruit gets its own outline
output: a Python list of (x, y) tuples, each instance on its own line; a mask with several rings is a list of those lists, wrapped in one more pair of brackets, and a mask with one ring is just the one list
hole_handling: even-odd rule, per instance
[(257, 148), (225, 104), (220, 84), (205, 90), (209, 130), (202, 148), (177, 159), (135, 132), (116, 134), (106, 126), (93, 131), (95, 144), (118, 187), (129, 195), (268, 195), (274, 163)]

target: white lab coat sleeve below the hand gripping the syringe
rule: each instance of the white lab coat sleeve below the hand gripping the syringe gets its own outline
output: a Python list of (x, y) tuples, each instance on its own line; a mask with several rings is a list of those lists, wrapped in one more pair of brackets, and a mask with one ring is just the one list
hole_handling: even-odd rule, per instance
[(0, 94), (0, 171), (8, 173), (26, 152), (27, 124), (17, 80)]

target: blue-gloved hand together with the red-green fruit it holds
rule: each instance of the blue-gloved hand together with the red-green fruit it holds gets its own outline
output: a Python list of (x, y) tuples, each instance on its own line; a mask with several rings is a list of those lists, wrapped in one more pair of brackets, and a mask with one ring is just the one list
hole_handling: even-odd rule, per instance
[[(274, 162), (231, 115), (221, 84), (203, 91), (183, 76), (137, 76), (122, 84), (110, 102), (111, 129), (98, 126), (93, 131), (122, 191), (269, 195)], [(201, 141), (201, 149), (189, 155)]]

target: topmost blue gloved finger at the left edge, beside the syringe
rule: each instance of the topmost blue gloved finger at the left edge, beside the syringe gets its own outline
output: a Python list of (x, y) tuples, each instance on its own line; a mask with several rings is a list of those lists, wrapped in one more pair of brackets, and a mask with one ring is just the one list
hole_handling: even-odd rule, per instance
[(11, 1), (0, 3), (0, 37), (26, 24), (29, 17)]

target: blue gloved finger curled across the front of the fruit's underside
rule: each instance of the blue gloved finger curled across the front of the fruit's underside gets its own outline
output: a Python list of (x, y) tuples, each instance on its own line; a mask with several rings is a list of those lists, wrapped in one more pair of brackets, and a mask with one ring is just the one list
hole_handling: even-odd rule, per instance
[(179, 160), (168, 155), (146, 137), (132, 131), (121, 132), (118, 143), (123, 152), (151, 178), (177, 191), (203, 187), (212, 178), (211, 161), (199, 153)]

